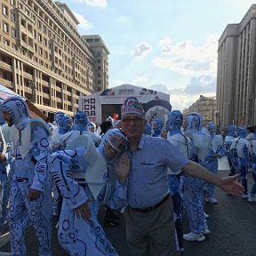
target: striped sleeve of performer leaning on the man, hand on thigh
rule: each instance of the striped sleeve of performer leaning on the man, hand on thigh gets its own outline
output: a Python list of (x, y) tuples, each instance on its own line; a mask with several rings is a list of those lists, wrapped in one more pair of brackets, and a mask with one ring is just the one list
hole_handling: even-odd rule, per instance
[(76, 169), (77, 163), (81, 162), (76, 161), (77, 154), (79, 152), (76, 150), (60, 150), (48, 157), (53, 180), (60, 188), (61, 196), (65, 198), (70, 209), (75, 209), (88, 200), (84, 188), (79, 186), (72, 177), (72, 170)]

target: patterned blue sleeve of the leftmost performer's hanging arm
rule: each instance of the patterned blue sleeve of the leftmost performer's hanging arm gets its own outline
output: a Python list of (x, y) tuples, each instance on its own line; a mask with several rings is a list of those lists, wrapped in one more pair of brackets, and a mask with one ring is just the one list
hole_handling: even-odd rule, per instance
[(49, 136), (43, 127), (35, 126), (31, 130), (31, 161), (34, 162), (36, 175), (33, 178), (31, 188), (44, 191), (44, 183), (47, 179), (47, 156), (50, 154)]

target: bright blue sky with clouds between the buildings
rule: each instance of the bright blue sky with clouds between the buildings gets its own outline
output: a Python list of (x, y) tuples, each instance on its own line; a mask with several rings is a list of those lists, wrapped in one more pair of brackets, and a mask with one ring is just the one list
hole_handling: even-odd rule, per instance
[(133, 84), (170, 94), (172, 109), (215, 96), (218, 40), (240, 23), (249, 0), (62, 0), (81, 35), (110, 52), (109, 87)]

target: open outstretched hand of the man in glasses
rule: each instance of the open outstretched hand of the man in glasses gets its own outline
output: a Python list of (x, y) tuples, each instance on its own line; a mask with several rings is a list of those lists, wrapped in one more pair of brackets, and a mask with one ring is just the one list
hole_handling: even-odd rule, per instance
[(233, 196), (244, 195), (244, 187), (236, 182), (238, 177), (239, 174), (235, 176), (222, 178), (220, 180), (220, 188), (222, 188), (224, 191), (228, 192), (228, 194), (231, 194)]

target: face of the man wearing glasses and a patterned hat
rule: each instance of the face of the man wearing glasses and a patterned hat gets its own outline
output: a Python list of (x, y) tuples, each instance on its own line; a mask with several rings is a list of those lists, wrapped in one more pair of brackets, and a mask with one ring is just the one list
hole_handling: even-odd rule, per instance
[(122, 119), (122, 128), (128, 140), (140, 140), (146, 123), (146, 119), (141, 115), (125, 115)]

